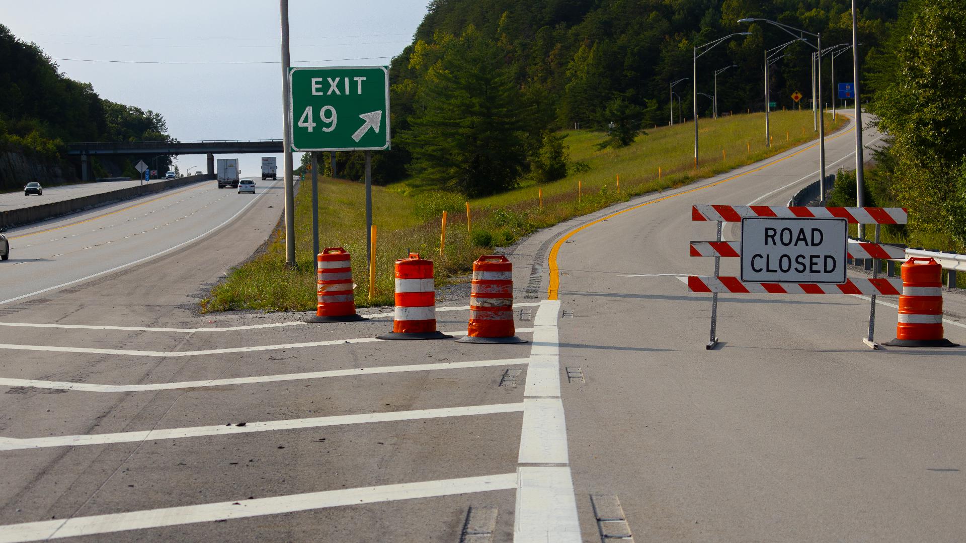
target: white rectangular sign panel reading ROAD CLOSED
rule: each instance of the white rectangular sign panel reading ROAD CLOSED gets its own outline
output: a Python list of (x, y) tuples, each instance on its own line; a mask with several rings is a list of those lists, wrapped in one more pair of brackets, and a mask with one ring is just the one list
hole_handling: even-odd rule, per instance
[(741, 280), (842, 284), (847, 234), (844, 218), (743, 218)]

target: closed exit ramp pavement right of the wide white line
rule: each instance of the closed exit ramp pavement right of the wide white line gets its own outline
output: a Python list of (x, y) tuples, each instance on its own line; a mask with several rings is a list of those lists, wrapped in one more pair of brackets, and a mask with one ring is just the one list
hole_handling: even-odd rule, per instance
[[(854, 168), (854, 149), (853, 131), (830, 135), (829, 171)], [(563, 402), (584, 541), (615, 526), (637, 541), (966, 538), (966, 349), (873, 352), (869, 302), (854, 296), (722, 295), (723, 346), (705, 350), (710, 295), (675, 276), (713, 274), (713, 259), (688, 256), (715, 235), (691, 206), (787, 205), (816, 170), (814, 147), (793, 150), (518, 247), (537, 264), (556, 251), (573, 316), (560, 365), (582, 377)], [(966, 344), (966, 300), (944, 299), (946, 336)], [(895, 337), (895, 322), (878, 305), (875, 337)], [(616, 497), (627, 525), (599, 524), (591, 495)]]

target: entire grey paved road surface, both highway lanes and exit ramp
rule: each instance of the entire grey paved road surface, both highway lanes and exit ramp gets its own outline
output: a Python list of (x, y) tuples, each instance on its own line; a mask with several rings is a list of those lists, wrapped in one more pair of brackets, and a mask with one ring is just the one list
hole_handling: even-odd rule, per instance
[[(830, 171), (852, 135), (829, 136)], [(0, 541), (962, 540), (966, 351), (872, 352), (869, 302), (844, 295), (723, 295), (706, 351), (709, 295), (674, 276), (711, 272), (688, 257), (714, 235), (692, 204), (784, 205), (816, 162), (804, 146), (531, 236), (517, 345), (379, 341), (386, 310), (197, 315), (280, 188), (18, 230), (14, 251), (61, 260), (0, 276), (24, 297), (0, 303)], [(964, 343), (966, 303), (945, 300)], [(440, 330), (467, 309), (440, 307)]]

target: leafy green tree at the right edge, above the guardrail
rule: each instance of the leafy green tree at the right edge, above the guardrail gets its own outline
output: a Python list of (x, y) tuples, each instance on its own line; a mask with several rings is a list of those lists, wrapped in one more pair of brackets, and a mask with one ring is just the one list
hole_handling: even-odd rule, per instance
[(966, 244), (966, 5), (917, 4), (903, 12), (909, 34), (873, 112), (891, 138), (892, 188), (910, 226)]

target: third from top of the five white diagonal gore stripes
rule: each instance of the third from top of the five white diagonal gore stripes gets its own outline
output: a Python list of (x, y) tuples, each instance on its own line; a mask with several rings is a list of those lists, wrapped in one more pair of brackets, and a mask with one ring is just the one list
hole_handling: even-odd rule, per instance
[(374, 366), (365, 368), (334, 369), (304, 373), (283, 373), (277, 375), (258, 375), (212, 379), (209, 381), (182, 381), (179, 383), (155, 383), (147, 385), (98, 385), (94, 383), (72, 383), (70, 381), (43, 381), (35, 379), (9, 379), (0, 377), (0, 386), (33, 386), (35, 388), (56, 388), (82, 392), (143, 392), (147, 390), (173, 390), (177, 388), (198, 388), (202, 386), (248, 385), (252, 383), (274, 383), (278, 381), (298, 381), (324, 379), (327, 377), (349, 377), (383, 373), (403, 373), (410, 371), (433, 371), (445, 369), (482, 368), (512, 364), (526, 364), (529, 358), (503, 358), (498, 360), (470, 360), (464, 362), (438, 362), (432, 364), (408, 364), (401, 366)]

